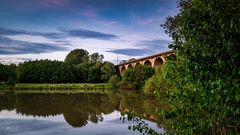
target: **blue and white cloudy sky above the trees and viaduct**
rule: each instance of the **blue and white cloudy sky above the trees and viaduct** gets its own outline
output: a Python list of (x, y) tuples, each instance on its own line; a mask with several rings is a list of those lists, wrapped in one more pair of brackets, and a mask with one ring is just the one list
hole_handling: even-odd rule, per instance
[(0, 63), (63, 61), (73, 49), (113, 63), (169, 50), (160, 26), (177, 0), (1, 0)]

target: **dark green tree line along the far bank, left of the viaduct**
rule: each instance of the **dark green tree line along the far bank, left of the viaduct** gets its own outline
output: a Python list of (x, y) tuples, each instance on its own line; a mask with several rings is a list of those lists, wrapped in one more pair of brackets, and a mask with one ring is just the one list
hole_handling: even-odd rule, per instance
[(7, 83), (106, 83), (116, 74), (114, 64), (99, 53), (72, 50), (63, 61), (34, 60), (19, 65), (0, 64), (0, 82)]

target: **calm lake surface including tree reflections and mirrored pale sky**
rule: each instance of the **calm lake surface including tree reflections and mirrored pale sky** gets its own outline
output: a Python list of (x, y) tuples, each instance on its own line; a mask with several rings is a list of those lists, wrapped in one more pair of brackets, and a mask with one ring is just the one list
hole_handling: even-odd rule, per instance
[[(0, 135), (133, 135), (132, 121), (120, 120), (127, 111), (156, 123), (153, 99), (134, 93), (11, 94), (0, 93)], [(148, 120), (146, 120), (148, 119)]]

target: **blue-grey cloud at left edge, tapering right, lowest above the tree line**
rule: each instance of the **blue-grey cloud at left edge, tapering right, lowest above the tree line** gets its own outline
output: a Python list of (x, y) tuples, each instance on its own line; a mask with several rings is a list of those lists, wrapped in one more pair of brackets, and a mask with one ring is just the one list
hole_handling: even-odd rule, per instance
[(68, 50), (65, 46), (45, 43), (31, 43), (25, 41), (13, 40), (0, 36), (0, 54), (30, 54), (30, 53), (49, 53), (55, 51)]

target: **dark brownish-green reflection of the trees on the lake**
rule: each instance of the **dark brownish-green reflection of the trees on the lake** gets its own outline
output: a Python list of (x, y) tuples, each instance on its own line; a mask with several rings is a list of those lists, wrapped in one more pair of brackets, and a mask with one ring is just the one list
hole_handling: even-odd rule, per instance
[(128, 93), (110, 94), (0, 94), (0, 111), (16, 110), (26, 116), (49, 117), (63, 114), (72, 127), (83, 127), (89, 122), (99, 123), (103, 115), (115, 110), (127, 111), (140, 117), (156, 120), (153, 99)]

